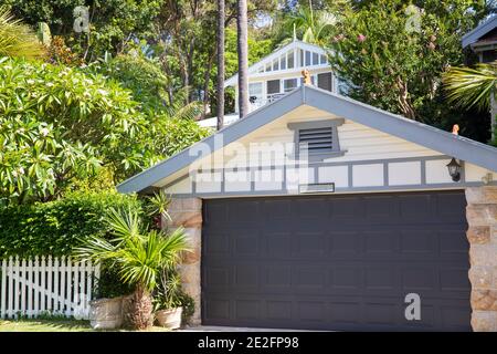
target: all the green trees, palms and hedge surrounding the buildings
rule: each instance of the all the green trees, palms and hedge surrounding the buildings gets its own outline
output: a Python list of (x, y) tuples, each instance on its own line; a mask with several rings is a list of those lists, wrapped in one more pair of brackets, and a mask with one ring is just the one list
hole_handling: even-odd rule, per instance
[(296, 37), (328, 50), (353, 98), (487, 142), (496, 66), (473, 67), (461, 38), (495, 9), (493, 0), (1, 0), (0, 257), (77, 250), (102, 261), (99, 295), (133, 291), (137, 327), (149, 323), (152, 296), (157, 309), (191, 309), (173, 267), (184, 236), (159, 228), (167, 196), (114, 188), (211, 133), (195, 119), (224, 111), (219, 102), (233, 110), (233, 91), (216, 96), (223, 77), (246, 76), (239, 69)]

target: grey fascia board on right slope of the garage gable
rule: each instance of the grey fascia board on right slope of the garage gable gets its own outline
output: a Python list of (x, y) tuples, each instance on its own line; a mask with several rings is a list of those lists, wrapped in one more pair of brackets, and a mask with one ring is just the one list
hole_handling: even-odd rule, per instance
[(497, 171), (497, 148), (408, 119), (317, 87), (305, 86), (305, 104)]

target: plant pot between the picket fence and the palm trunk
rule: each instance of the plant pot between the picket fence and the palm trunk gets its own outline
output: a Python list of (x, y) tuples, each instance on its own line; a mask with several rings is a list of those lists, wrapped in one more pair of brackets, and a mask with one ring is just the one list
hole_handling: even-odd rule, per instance
[(115, 330), (123, 325), (123, 296), (89, 302), (89, 325), (98, 330)]

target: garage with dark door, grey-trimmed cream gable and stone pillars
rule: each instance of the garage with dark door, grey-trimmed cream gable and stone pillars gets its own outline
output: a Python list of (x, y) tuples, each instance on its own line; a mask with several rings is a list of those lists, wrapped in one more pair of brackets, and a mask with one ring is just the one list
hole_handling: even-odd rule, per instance
[(118, 190), (170, 196), (192, 325), (497, 332), (497, 148), (457, 129), (302, 85)]

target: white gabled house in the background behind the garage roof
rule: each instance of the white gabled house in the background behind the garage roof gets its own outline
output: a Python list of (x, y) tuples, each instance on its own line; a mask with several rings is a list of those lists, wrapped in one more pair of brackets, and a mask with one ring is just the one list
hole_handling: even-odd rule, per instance
[[(326, 51), (315, 44), (294, 40), (248, 67), (250, 111), (257, 110), (303, 85), (302, 71), (310, 72), (311, 84), (334, 93), (342, 93), (345, 86), (331, 72)], [(224, 125), (239, 119), (239, 75), (224, 82), (224, 87), (235, 88), (235, 112), (224, 116)], [(199, 122), (215, 128), (216, 117)]]

